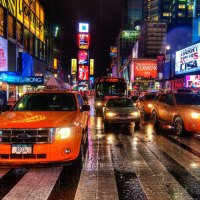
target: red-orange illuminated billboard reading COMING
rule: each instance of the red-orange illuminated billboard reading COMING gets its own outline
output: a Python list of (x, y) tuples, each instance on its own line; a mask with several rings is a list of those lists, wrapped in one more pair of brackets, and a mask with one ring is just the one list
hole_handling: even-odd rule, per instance
[(130, 67), (131, 81), (157, 78), (156, 59), (133, 59)]

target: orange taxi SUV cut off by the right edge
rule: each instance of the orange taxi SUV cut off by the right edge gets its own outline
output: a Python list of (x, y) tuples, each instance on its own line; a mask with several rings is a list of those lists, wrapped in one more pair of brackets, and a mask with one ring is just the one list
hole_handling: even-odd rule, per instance
[(189, 92), (160, 94), (153, 104), (152, 121), (158, 128), (160, 123), (174, 127), (179, 135), (185, 131), (200, 131), (200, 95)]

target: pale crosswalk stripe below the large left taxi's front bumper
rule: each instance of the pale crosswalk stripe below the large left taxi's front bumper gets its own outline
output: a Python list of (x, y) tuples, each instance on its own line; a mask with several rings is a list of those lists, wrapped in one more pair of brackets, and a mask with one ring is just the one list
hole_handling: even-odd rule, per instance
[(31, 169), (3, 199), (48, 199), (61, 171), (62, 167)]

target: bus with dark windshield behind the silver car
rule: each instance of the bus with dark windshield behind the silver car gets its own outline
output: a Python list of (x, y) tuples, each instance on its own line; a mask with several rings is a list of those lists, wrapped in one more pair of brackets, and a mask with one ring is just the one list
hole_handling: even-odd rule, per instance
[(124, 78), (99, 77), (95, 81), (95, 101), (96, 112), (102, 112), (107, 99), (113, 97), (126, 97), (127, 84)]

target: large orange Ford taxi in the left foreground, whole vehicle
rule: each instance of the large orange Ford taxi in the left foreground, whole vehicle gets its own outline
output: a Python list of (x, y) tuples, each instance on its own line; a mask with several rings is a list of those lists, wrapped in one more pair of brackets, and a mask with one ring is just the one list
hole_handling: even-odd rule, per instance
[(0, 115), (0, 164), (76, 160), (81, 145), (87, 143), (89, 110), (78, 92), (42, 90), (24, 94)]

